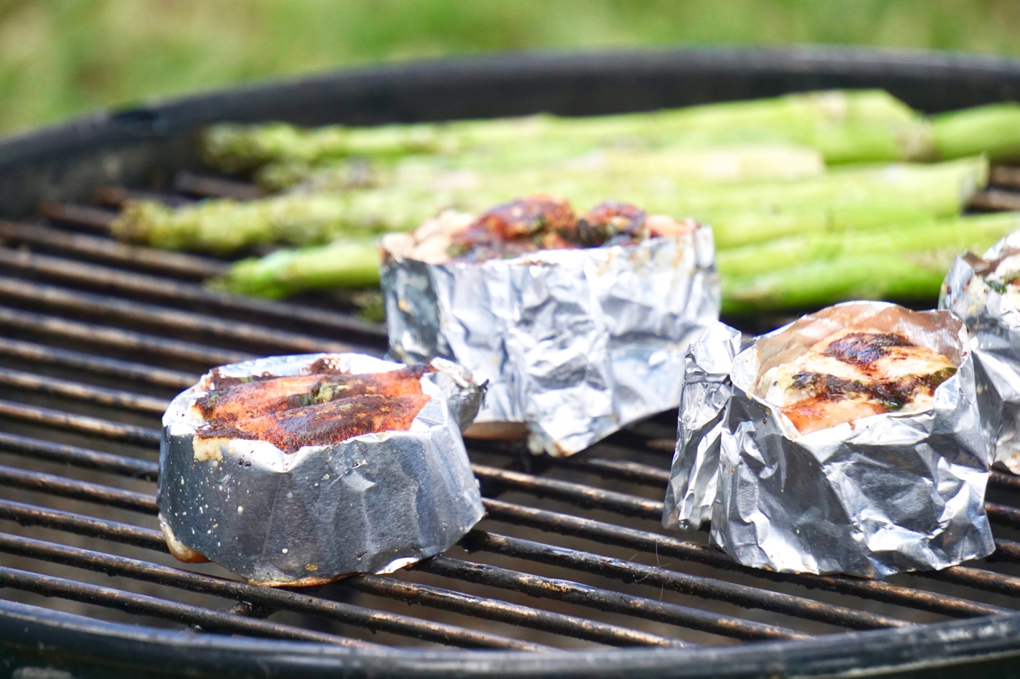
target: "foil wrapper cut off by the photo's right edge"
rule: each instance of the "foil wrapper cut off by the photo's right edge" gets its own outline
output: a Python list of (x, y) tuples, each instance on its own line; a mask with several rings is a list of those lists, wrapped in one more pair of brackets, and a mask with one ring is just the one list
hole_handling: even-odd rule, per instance
[(1007, 249), (1020, 249), (1020, 231), (981, 259), (969, 252), (958, 257), (942, 283), (938, 308), (959, 316), (970, 331), (981, 412), (996, 442), (992, 463), (1020, 473), (1020, 310), (983, 275), (984, 265)]

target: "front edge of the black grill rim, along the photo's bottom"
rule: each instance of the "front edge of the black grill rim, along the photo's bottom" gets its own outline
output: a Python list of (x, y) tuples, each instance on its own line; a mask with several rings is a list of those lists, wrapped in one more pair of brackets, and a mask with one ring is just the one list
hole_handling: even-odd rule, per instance
[[(821, 637), (824, 639), (824, 637)], [(234, 638), (113, 623), (0, 601), (0, 648), (44, 656), (47, 663), (136, 676), (162, 663), (174, 676), (448, 677), (759, 677), (849, 672), (903, 676), (954, 665), (970, 671), (1005, 669), (1020, 657), (1020, 614), (973, 618), (892, 630), (847, 632), (838, 642), (761, 641), (685, 649), (622, 648), (528, 653), (345, 648), (315, 642)], [(864, 663), (862, 663), (864, 661)], [(97, 668), (97, 666), (99, 666)], [(123, 675), (115, 674), (117, 670)], [(111, 672), (113, 674), (111, 674)], [(84, 675), (89, 676), (89, 675)], [(923, 676), (923, 675), (918, 675)], [(929, 675), (930, 676), (930, 675)], [(992, 675), (985, 675), (992, 676)]]

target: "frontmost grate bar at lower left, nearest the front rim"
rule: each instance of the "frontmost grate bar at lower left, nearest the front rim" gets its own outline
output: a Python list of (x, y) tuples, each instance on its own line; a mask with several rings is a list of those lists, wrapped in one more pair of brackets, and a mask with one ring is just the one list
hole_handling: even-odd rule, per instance
[(52, 575), (0, 566), (0, 586), (32, 591), (44, 597), (60, 597), (85, 604), (96, 604), (135, 615), (151, 616), (189, 625), (199, 625), (209, 631), (248, 634), (303, 641), (336, 643), (344, 646), (371, 647), (374, 643), (348, 639), (335, 634), (314, 632), (275, 622), (247, 618), (221, 611), (180, 604), (156, 597), (136, 595), (122, 589), (102, 587)]

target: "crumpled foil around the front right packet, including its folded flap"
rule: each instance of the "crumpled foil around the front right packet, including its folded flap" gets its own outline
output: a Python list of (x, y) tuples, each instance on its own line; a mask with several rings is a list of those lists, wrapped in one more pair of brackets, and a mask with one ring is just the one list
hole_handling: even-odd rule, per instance
[[(754, 394), (759, 372), (853, 325), (902, 333), (946, 355), (957, 373), (935, 389), (930, 410), (800, 434)], [(742, 564), (781, 572), (885, 577), (993, 551), (984, 514), (990, 447), (959, 319), (847, 302), (734, 355), (737, 337), (718, 324), (688, 352), (684, 406), (697, 406), (680, 415), (666, 527), (696, 528), (711, 515), (715, 545)]]

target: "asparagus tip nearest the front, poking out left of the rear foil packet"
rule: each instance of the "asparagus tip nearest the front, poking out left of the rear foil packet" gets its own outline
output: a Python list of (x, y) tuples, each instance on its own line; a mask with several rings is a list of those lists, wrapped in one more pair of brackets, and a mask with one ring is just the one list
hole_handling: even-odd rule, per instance
[(237, 294), (279, 298), (303, 290), (378, 285), (376, 239), (343, 238), (326, 245), (279, 249), (235, 263), (209, 287)]

